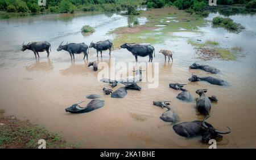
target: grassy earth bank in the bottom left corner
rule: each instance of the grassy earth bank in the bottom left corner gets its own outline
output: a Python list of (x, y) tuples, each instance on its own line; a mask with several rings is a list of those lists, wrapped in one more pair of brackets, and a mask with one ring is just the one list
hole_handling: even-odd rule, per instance
[(46, 148), (79, 148), (69, 144), (57, 133), (22, 121), (15, 116), (5, 116), (0, 110), (0, 149), (1, 148), (38, 148), (38, 140), (46, 140)]

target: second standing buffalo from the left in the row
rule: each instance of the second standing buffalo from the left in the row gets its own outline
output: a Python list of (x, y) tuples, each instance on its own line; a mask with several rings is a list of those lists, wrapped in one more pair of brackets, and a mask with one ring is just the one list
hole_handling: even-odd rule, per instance
[(85, 43), (79, 43), (79, 44), (75, 44), (75, 43), (71, 43), (71, 44), (67, 44), (66, 45), (62, 45), (63, 42), (61, 42), (61, 44), (59, 45), (59, 47), (57, 48), (57, 51), (61, 51), (61, 50), (65, 50), (68, 51), (68, 53), (70, 54), (70, 57), (72, 59), (72, 55), (73, 55), (73, 59), (75, 59), (74, 54), (80, 54), (80, 53), (84, 53), (84, 58), (86, 56), (86, 59), (88, 60), (88, 46)]

